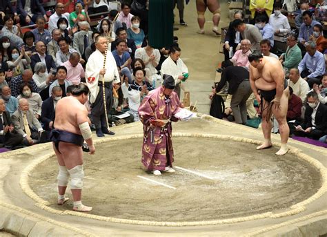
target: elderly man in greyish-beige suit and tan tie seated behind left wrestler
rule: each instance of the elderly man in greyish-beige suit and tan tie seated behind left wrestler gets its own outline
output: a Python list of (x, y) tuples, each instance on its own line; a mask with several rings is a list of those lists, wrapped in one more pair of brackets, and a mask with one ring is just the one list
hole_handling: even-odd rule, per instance
[(27, 99), (19, 99), (19, 107), (12, 114), (11, 119), (14, 129), (23, 135), (23, 144), (30, 146), (39, 143), (43, 129), (39, 120), (33, 115), (33, 111), (30, 110)]

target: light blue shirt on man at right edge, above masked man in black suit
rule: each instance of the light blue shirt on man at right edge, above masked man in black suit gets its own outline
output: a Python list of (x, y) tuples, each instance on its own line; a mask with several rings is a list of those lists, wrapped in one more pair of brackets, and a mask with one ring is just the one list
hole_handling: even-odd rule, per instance
[(302, 73), (306, 68), (311, 73), (308, 75), (308, 78), (315, 78), (324, 75), (326, 70), (324, 55), (318, 50), (313, 57), (306, 53), (302, 61), (299, 63), (299, 72)]

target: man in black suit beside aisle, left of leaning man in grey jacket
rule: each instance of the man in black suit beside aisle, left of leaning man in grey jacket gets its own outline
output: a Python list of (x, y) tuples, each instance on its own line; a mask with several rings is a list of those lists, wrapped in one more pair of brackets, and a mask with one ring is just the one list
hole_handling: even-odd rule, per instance
[[(241, 19), (243, 21), (244, 14), (241, 10), (237, 10), (234, 13), (234, 19)], [(236, 52), (241, 48), (241, 33), (236, 31), (232, 25), (232, 21), (229, 23), (228, 30), (225, 35), (225, 44), (224, 48), (224, 55), (225, 61), (230, 59)], [(230, 50), (232, 50), (232, 54), (230, 54)]]

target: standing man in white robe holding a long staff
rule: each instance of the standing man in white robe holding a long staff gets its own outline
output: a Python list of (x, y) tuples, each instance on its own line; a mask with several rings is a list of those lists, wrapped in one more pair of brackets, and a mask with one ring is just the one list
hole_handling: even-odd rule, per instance
[(115, 58), (110, 50), (107, 52), (106, 66), (103, 69), (104, 55), (107, 48), (107, 38), (103, 36), (97, 37), (95, 40), (95, 50), (88, 58), (86, 64), (86, 82), (90, 88), (89, 102), (91, 104), (92, 122), (95, 124), (98, 137), (103, 137), (104, 134), (114, 135), (112, 131), (108, 131), (106, 115), (103, 105), (103, 87), (102, 76), (104, 75), (105, 90), (106, 90), (106, 108), (107, 113), (112, 106), (112, 83), (120, 82), (119, 72), (117, 69)]

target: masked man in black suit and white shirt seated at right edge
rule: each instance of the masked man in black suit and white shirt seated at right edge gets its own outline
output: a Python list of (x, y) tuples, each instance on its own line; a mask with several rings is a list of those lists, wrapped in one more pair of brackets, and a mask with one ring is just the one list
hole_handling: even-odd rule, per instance
[(319, 102), (314, 91), (308, 93), (307, 102), (304, 122), (295, 127), (295, 135), (319, 140), (327, 134), (327, 106)]

